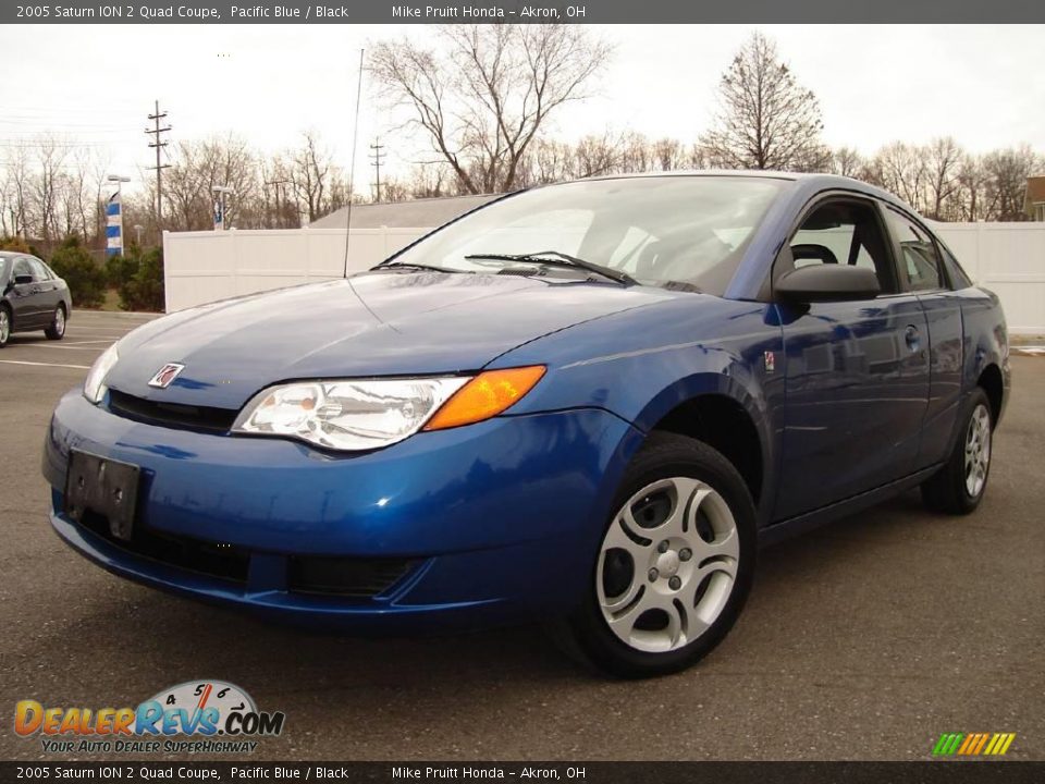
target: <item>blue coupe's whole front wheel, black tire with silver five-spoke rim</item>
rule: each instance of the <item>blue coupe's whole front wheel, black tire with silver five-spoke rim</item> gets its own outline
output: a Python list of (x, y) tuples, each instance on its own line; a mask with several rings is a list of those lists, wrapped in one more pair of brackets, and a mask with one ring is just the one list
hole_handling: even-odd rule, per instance
[(751, 590), (751, 495), (712, 448), (654, 432), (613, 509), (585, 600), (560, 626), (561, 645), (565, 636), (567, 652), (617, 677), (684, 670), (725, 638)]

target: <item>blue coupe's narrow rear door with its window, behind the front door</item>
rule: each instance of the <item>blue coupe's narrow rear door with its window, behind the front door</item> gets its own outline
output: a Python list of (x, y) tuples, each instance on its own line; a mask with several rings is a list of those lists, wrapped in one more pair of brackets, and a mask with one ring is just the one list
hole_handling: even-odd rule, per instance
[(918, 296), (929, 327), (929, 405), (914, 461), (915, 468), (924, 468), (946, 456), (961, 402), (961, 304), (932, 232), (894, 207), (886, 207), (885, 216), (899, 261), (900, 286)]

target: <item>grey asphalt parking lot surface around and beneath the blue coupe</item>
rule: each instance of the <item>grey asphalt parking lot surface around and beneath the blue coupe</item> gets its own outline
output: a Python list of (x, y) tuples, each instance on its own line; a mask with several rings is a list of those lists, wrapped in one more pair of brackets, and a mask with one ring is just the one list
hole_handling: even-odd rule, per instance
[(1013, 358), (976, 514), (932, 515), (909, 493), (765, 550), (709, 659), (616, 683), (533, 628), (303, 633), (125, 583), (67, 550), (39, 468), (50, 412), (146, 318), (75, 313), (63, 342), (15, 335), (0, 351), (2, 759), (56, 759), (13, 734), (17, 700), (120, 707), (205, 677), (286, 713), (257, 759), (929, 759), (943, 732), (1015, 732), (1009, 758), (1045, 758), (1045, 356)]

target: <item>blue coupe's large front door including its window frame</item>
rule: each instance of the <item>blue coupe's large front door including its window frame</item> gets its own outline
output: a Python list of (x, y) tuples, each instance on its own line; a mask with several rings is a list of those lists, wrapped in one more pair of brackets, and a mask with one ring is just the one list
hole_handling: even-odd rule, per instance
[(878, 204), (827, 195), (807, 206), (773, 275), (809, 264), (875, 271), (873, 298), (777, 303), (786, 402), (776, 519), (886, 485), (909, 474), (929, 399), (926, 320), (898, 285)]

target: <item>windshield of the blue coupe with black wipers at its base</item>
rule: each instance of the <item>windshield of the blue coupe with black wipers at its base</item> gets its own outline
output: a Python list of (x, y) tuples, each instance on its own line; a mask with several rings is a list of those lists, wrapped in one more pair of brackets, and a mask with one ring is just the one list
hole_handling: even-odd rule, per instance
[[(785, 180), (693, 175), (589, 180), (534, 188), (439, 230), (390, 260), (454, 272), (537, 270), (573, 256), (640, 283), (721, 294)], [(546, 256), (545, 256), (546, 255)], [(577, 267), (545, 274), (589, 277)]]

